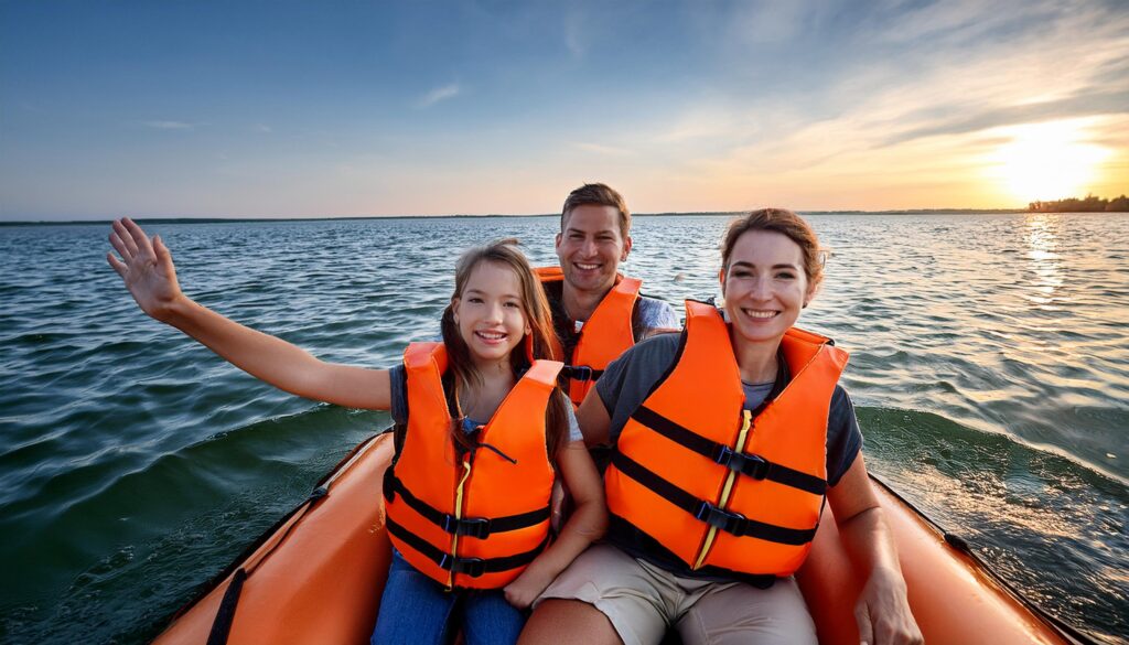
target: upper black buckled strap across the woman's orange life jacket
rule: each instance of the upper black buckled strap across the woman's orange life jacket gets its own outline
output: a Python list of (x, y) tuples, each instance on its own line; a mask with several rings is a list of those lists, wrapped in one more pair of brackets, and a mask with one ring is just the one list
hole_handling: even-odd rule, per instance
[(631, 418), (672, 442), (753, 479), (768, 479), (812, 495), (828, 491), (828, 482), (819, 477), (772, 463), (760, 455), (735, 451), (684, 428), (645, 406), (639, 406)]

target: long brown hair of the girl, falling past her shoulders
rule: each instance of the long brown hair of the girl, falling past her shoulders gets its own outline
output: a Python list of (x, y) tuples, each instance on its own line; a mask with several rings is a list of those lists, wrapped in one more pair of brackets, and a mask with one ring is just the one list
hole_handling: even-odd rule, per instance
[[(443, 330), (443, 342), (447, 347), (447, 359), (452, 372), (455, 375), (454, 395), (457, 401), (463, 383), (482, 383), (482, 375), (474, 367), (471, 359), (471, 350), (458, 333), (458, 325), (455, 324), (455, 298), (461, 298), (466, 288), (466, 280), (474, 268), (482, 262), (495, 262), (514, 271), (520, 284), (522, 313), (530, 325), (532, 335), (533, 358), (552, 358), (551, 339), (553, 332), (552, 313), (549, 308), (549, 300), (541, 288), (541, 281), (533, 274), (528, 260), (518, 250), (518, 241), (510, 237), (499, 239), (484, 246), (476, 246), (463, 253), (455, 264), (455, 293), (450, 296), (450, 303), (443, 311), (443, 319), (439, 323)], [(525, 355), (525, 343), (520, 343), (509, 354), (509, 364), (515, 376), (522, 369), (528, 367), (530, 360)], [(568, 411), (564, 406), (564, 396), (559, 389), (553, 389), (549, 396), (549, 406), (545, 408), (545, 447), (549, 459), (555, 461), (557, 451), (564, 446), (568, 439)], [(471, 443), (462, 429), (462, 419), (455, 420), (452, 427), (452, 439), (455, 445), (470, 448)]]

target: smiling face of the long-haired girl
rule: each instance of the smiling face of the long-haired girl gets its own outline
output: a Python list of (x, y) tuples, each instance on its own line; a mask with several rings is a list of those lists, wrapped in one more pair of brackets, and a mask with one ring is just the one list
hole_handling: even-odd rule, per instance
[(509, 360), (509, 352), (527, 333), (522, 281), (498, 262), (479, 262), (454, 298), (455, 324), (471, 358), (479, 366)]

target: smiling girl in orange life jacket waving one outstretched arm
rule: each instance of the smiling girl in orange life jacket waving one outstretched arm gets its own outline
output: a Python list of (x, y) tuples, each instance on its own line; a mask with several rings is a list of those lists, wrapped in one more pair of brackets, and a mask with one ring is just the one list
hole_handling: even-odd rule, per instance
[[(299, 396), (391, 410), (385, 477), (392, 565), (374, 643), (441, 643), (456, 607), (466, 643), (511, 643), (523, 610), (606, 524), (599, 477), (557, 389), (549, 305), (516, 241), (464, 254), (441, 343), (393, 369), (326, 363), (185, 296), (172, 255), (129, 219), (107, 260), (141, 310), (248, 374)], [(410, 412), (409, 412), (410, 411)], [(550, 541), (555, 474), (576, 507)]]

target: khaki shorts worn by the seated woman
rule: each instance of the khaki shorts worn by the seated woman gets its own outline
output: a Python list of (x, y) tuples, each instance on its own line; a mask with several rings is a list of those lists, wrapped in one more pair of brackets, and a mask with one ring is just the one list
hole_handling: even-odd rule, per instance
[(625, 645), (657, 644), (672, 626), (685, 645), (816, 644), (815, 625), (793, 578), (756, 589), (680, 577), (610, 544), (581, 554), (537, 602), (550, 598), (595, 607)]

